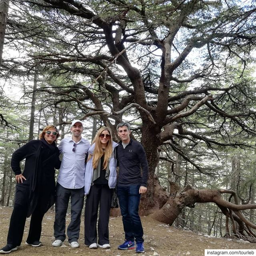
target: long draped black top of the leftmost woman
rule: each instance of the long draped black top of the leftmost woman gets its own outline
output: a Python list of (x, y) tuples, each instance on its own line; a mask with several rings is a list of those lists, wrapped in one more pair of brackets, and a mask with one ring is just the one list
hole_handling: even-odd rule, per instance
[[(20, 161), (25, 159), (24, 171), (21, 172)], [(32, 140), (12, 154), (11, 167), (16, 175), (26, 178), (23, 183), (16, 184), (16, 200), (28, 195), (28, 213), (32, 214), (38, 199), (40, 207), (46, 212), (54, 204), (55, 195), (55, 169), (60, 168), (59, 150), (55, 142), (48, 144), (46, 140)], [(21, 194), (22, 193), (22, 194)]]

